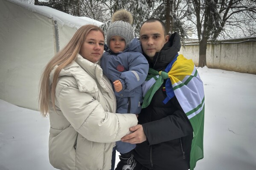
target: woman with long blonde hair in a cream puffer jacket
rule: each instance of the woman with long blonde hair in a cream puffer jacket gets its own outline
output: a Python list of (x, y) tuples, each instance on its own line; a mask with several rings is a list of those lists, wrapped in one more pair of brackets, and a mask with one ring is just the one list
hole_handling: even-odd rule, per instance
[(115, 95), (98, 65), (103, 47), (103, 31), (82, 26), (43, 72), (39, 105), (43, 116), (49, 113), (49, 159), (55, 168), (111, 169), (115, 141), (137, 124), (134, 114), (114, 114)]

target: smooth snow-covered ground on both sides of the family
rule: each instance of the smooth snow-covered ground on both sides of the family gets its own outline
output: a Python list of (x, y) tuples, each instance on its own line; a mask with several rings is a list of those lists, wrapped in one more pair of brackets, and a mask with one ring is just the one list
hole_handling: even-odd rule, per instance
[[(198, 72), (205, 131), (204, 158), (195, 170), (256, 170), (256, 75), (207, 67)], [(39, 112), (0, 100), (0, 170), (54, 170), (49, 126)]]

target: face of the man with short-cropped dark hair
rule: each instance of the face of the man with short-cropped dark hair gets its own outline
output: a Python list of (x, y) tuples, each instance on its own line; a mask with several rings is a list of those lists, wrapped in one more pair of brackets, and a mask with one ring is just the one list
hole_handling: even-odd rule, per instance
[(158, 21), (153, 23), (144, 23), (140, 30), (140, 39), (143, 52), (151, 59), (160, 52), (169, 35), (165, 36), (162, 24)]

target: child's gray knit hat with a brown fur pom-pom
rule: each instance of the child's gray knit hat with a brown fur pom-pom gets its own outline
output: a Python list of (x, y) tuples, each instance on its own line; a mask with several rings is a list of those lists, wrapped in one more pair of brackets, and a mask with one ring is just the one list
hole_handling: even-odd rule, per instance
[(110, 39), (112, 36), (118, 35), (125, 40), (125, 49), (130, 45), (133, 39), (132, 31), (132, 14), (125, 9), (115, 12), (112, 16), (112, 24), (107, 31), (107, 45), (109, 47)]

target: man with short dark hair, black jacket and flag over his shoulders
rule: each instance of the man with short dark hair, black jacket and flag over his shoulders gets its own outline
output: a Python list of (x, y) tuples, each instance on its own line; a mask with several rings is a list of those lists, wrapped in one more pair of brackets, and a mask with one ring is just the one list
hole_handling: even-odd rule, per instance
[[(157, 88), (149, 88), (147, 87), (149, 85), (145, 83), (144, 89), (148, 92), (144, 95), (142, 105), (144, 109), (141, 110), (138, 116), (138, 125), (130, 128), (133, 133), (121, 139), (124, 142), (136, 144), (133, 150), (133, 158), (135, 160), (130, 160), (134, 166), (129, 167), (133, 168), (131, 170), (188, 170), (189, 168), (192, 170), (195, 162), (203, 158), (203, 83), (198, 74), (193, 73), (190, 75), (190, 73), (184, 73), (183, 75), (182, 73), (182, 78), (179, 77), (180, 72), (189, 72), (187, 70), (191, 70), (191, 72), (197, 73), (197, 71), (191, 60), (178, 55), (181, 47), (180, 37), (175, 32), (169, 38), (165, 30), (165, 24), (161, 20), (152, 18), (144, 22), (140, 29), (140, 40), (144, 55), (151, 68), (149, 77), (150, 75), (152, 77), (154, 73), (159, 73), (159, 75), (155, 76), (156, 82), (154, 86), (157, 86)], [(159, 71), (168, 72), (167, 77), (166, 74), (162, 74)], [(176, 74), (175, 72), (179, 73)], [(158, 81), (159, 77), (162, 80)], [(179, 80), (183, 78), (188, 78), (186, 83), (182, 82), (183, 80)], [(176, 80), (180, 83), (178, 83), (179, 85), (184, 86), (173, 88)], [(190, 82), (194, 84), (194, 81), (195, 84), (198, 84), (198, 89), (197, 85), (191, 85)], [(185, 92), (184, 95), (182, 92), (187, 89), (188, 94)], [(188, 103), (183, 101), (188, 101)], [(194, 101), (195, 104), (190, 104)], [(196, 105), (197, 109), (194, 106), (192, 109), (190, 106), (186, 108), (188, 105)], [(200, 115), (200, 118), (197, 116), (189, 117), (191, 120), (195, 120), (195, 124), (199, 124), (200, 127), (192, 124), (192, 128), (191, 120), (188, 118), (191, 112), (193, 112), (193, 115)], [(200, 144), (194, 141), (196, 143), (195, 146), (201, 145), (197, 147), (200, 148), (197, 151), (201, 155), (195, 158), (196, 160), (193, 158), (192, 164), (190, 164), (191, 151), (193, 150), (194, 153), (194, 148), (191, 150), (193, 129), (194, 138), (201, 135), (196, 138), (201, 142)]]

